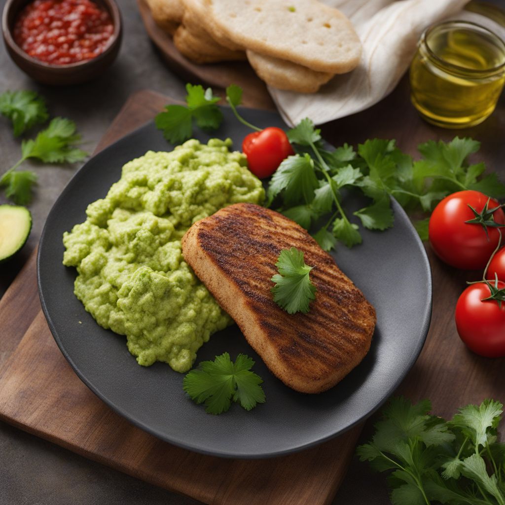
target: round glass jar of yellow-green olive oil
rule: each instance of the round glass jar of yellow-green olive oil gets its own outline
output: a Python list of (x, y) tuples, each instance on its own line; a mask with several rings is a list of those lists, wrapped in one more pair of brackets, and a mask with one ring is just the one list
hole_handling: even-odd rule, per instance
[(466, 21), (427, 29), (410, 69), (412, 103), (430, 123), (464, 128), (486, 119), (505, 82), (505, 43)]

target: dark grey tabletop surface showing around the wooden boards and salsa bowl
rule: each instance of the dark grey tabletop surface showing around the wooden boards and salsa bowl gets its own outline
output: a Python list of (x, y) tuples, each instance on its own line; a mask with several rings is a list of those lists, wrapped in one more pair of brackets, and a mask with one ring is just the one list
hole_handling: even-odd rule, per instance
[[(87, 141), (85, 148), (90, 152), (132, 92), (148, 88), (175, 98), (183, 98), (185, 94), (184, 82), (166, 67), (145, 34), (135, 0), (118, 0), (118, 3), (125, 29), (120, 55), (106, 74), (87, 84), (69, 88), (37, 85), (12, 63), (3, 41), (0, 41), (0, 92), (7, 89), (39, 91), (47, 98), (52, 116), (61, 115), (76, 121)], [(0, 7), (3, 8), (4, 4), (5, 0), (0, 0)], [(0, 173), (13, 165), (20, 155), (20, 142), (13, 140), (10, 126), (3, 119), (0, 119), (0, 154)], [(0, 296), (28, 258), (38, 241), (47, 213), (79, 165), (34, 167), (39, 185), (30, 205), (33, 231), (22, 253), (15, 260), (0, 265)], [(5, 198), (0, 195), (2, 203)], [(362, 439), (369, 436), (370, 433), (365, 431)], [(198, 479), (197, 475), (195, 479)], [(189, 505), (198, 502), (93, 463), (0, 423), (0, 505), (70, 503)], [(355, 459), (333, 503), (386, 505), (389, 499), (384, 479), (370, 473), (367, 465)]]

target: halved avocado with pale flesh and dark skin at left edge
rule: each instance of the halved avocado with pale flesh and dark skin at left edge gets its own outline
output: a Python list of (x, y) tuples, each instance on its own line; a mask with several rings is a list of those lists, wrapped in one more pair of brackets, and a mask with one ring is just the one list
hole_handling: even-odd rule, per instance
[(0, 205), (0, 263), (25, 245), (31, 225), (31, 214), (26, 207)]

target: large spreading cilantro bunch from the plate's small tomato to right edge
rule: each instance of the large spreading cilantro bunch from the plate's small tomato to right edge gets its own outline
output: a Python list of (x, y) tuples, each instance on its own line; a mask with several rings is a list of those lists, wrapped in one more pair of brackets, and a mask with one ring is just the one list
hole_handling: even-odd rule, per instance
[[(289, 130), (288, 138), (296, 155), (284, 160), (274, 173), (268, 205), (311, 230), (324, 250), (337, 242), (348, 247), (361, 243), (356, 220), (370, 230), (390, 228), (394, 220), (391, 196), (415, 215), (429, 214), (444, 196), (461, 189), (505, 197), (505, 185), (496, 174), (484, 174), (483, 163), (467, 162), (480, 147), (471, 138), (422, 143), (419, 161), (402, 153), (394, 140), (370, 139), (357, 150), (348, 144), (327, 150), (321, 131), (310, 119)], [(369, 205), (352, 213), (354, 220), (344, 208), (342, 190), (358, 191), (370, 199)], [(421, 238), (427, 239), (428, 221), (414, 224)]]

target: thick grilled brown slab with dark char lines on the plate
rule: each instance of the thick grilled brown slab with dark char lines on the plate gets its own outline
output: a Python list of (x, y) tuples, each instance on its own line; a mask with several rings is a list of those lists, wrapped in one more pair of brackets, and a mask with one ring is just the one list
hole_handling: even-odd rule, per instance
[[(282, 249), (296, 247), (314, 267), (316, 299), (289, 315), (270, 280)], [(367, 354), (375, 310), (301, 226), (258, 205), (235, 204), (197, 221), (182, 238), (184, 259), (249, 344), (284, 384), (304, 393), (333, 387)]]

